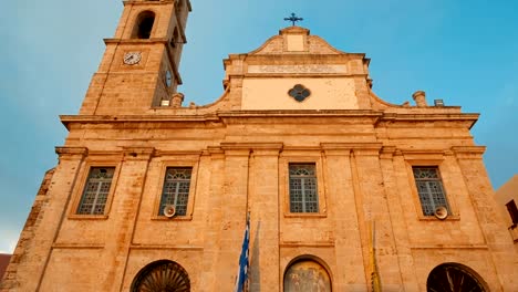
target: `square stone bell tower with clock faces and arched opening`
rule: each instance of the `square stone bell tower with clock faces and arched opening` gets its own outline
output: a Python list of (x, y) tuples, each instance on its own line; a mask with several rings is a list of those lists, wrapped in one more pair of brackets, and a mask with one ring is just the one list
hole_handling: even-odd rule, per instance
[(134, 115), (168, 106), (177, 86), (189, 0), (126, 0), (80, 115)]

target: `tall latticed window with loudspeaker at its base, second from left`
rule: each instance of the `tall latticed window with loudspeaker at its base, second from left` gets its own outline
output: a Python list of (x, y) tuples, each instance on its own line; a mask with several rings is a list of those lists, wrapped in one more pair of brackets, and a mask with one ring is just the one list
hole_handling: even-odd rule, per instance
[(193, 167), (167, 168), (158, 216), (164, 215), (164, 209), (169, 205), (175, 207), (176, 215), (185, 216), (187, 213), (191, 173)]

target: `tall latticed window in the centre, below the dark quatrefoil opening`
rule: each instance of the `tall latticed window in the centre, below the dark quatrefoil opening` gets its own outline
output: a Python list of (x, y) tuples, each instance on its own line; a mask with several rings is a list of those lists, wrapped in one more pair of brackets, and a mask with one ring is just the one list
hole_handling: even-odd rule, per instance
[(319, 212), (314, 164), (290, 164), (290, 212)]

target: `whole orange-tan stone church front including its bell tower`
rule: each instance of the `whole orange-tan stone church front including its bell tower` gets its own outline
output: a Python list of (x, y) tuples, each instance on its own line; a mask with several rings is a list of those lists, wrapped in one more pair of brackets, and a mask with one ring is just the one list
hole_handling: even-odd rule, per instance
[(296, 25), (184, 105), (190, 9), (124, 1), (0, 291), (232, 291), (247, 226), (249, 291), (518, 291), (478, 114), (384, 102)]

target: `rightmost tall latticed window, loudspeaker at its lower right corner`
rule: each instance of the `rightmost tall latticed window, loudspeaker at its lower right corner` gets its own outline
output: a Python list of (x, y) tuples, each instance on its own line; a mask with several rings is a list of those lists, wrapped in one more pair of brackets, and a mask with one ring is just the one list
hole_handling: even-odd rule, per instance
[(433, 216), (439, 207), (445, 207), (450, 212), (438, 168), (436, 166), (414, 166), (413, 170), (423, 213)]

